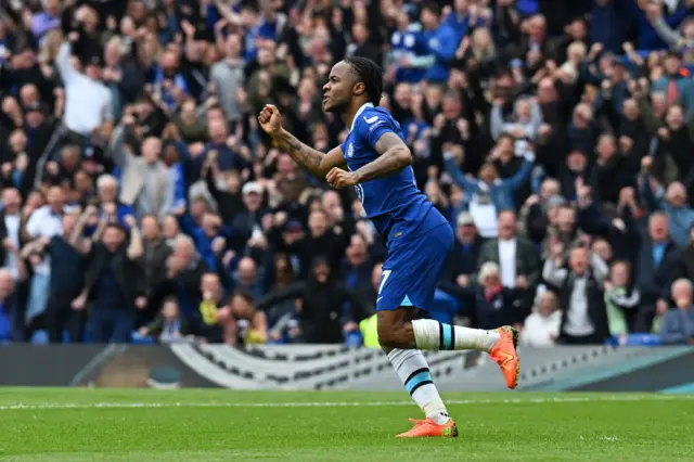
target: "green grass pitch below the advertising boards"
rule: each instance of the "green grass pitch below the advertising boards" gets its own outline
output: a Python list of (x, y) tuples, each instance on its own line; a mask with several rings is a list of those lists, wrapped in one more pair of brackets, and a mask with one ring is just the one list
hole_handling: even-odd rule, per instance
[(694, 396), (447, 394), (457, 439), (394, 436), (403, 393), (0, 388), (0, 461), (691, 461)]

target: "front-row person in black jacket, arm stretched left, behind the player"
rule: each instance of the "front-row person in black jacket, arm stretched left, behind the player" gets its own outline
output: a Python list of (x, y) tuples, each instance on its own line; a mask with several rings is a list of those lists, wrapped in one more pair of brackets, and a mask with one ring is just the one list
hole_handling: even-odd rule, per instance
[(296, 313), (301, 343), (339, 344), (346, 333), (358, 330), (352, 312), (361, 311), (360, 301), (333, 278), (325, 257), (313, 260), (308, 281), (268, 294), (258, 301), (257, 308), (266, 310), (291, 298), (301, 300)]

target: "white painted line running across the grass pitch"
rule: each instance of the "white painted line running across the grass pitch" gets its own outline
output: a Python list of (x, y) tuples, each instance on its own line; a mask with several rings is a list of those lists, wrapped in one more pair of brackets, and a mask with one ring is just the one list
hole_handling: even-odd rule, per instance
[[(448, 399), (447, 405), (539, 405), (599, 401), (677, 401), (692, 400), (694, 395), (645, 395), (645, 396), (577, 396), (555, 398), (510, 399)], [(94, 402), (94, 403), (37, 403), (0, 405), (0, 411), (46, 409), (138, 409), (138, 408), (361, 408), (413, 406), (412, 401), (317, 401), (317, 402)]]

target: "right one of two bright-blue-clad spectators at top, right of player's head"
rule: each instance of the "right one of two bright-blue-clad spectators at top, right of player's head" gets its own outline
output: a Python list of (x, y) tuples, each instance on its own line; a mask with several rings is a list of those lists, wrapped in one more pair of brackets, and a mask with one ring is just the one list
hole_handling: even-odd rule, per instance
[(441, 12), (436, 3), (422, 7), (420, 20), (424, 26), (423, 35), (434, 56), (434, 64), (426, 70), (426, 80), (430, 82), (447, 82), (450, 63), (455, 56), (460, 43), (459, 34), (446, 22), (441, 23)]

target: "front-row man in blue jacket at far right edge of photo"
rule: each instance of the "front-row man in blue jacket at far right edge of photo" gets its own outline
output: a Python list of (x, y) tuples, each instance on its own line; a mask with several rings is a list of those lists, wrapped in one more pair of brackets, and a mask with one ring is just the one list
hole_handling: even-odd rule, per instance
[(678, 279), (672, 283), (671, 297), (677, 309), (665, 313), (660, 324), (664, 345), (694, 344), (694, 311), (692, 310), (692, 281)]

